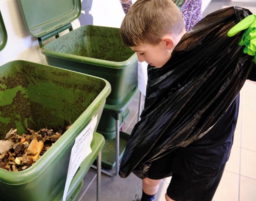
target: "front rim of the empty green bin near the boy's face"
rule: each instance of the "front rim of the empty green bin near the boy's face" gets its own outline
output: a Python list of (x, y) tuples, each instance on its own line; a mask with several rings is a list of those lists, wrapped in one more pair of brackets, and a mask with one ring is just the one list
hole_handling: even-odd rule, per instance
[(41, 53), (46, 56), (51, 56), (59, 59), (65, 59), (69, 61), (76, 61), (80, 63), (86, 63), (86, 64), (115, 68), (115, 69), (125, 68), (131, 65), (132, 63), (134, 63), (136, 60), (138, 61), (138, 57), (136, 53), (134, 53), (131, 57), (129, 57), (129, 59), (125, 61), (108, 61), (104, 59), (95, 59), (91, 57), (84, 57), (84, 56), (79, 56), (74, 54), (55, 52), (52, 50), (45, 49), (44, 46), (41, 48)]

